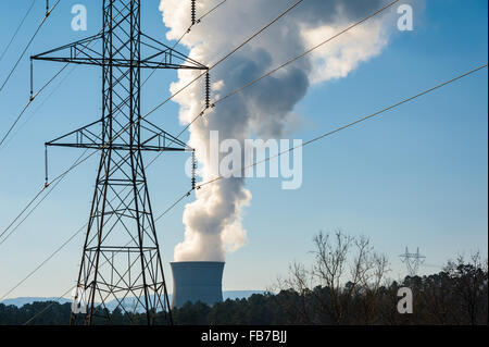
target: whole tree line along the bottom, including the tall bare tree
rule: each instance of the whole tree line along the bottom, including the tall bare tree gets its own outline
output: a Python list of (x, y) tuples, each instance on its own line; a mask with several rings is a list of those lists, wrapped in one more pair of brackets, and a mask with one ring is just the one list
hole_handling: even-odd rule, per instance
[[(487, 325), (488, 267), (478, 253), (449, 261), (442, 271), (424, 276), (389, 280), (387, 258), (374, 250), (367, 238), (341, 232), (319, 233), (314, 238), (315, 257), (310, 269), (292, 263), (288, 276), (273, 292), (247, 299), (226, 300), (212, 307), (186, 303), (172, 311), (177, 325)], [(413, 312), (401, 314), (400, 288), (410, 288)], [(271, 290), (272, 292), (272, 290)], [(64, 325), (71, 303), (34, 302), (0, 305), (0, 324)], [(121, 311), (112, 312), (113, 324), (130, 322)], [(97, 322), (96, 322), (97, 323)]]

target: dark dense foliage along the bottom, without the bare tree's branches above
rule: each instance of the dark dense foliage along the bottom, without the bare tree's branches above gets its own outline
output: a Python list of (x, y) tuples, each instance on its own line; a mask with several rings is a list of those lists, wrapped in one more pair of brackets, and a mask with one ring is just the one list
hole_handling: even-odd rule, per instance
[[(173, 311), (178, 325), (276, 325), (276, 324), (488, 324), (487, 270), (465, 263), (449, 263), (444, 271), (423, 277), (406, 277), (402, 283), (381, 286), (373, 296), (356, 288), (346, 303), (341, 322), (326, 309), (329, 290), (316, 287), (299, 295), (281, 290), (277, 295), (253, 295), (248, 299), (227, 300), (212, 308), (187, 303)], [(398, 289), (410, 287), (414, 312), (397, 311)], [(348, 284), (343, 289), (349, 290)], [(46, 309), (48, 307), (48, 309)], [(36, 313), (46, 311), (30, 324), (52, 325), (70, 322), (71, 305), (34, 302), (22, 308), (0, 305), (0, 324), (24, 324)], [(112, 315), (114, 324), (128, 324), (121, 312)], [(137, 323), (142, 324), (145, 317)]]

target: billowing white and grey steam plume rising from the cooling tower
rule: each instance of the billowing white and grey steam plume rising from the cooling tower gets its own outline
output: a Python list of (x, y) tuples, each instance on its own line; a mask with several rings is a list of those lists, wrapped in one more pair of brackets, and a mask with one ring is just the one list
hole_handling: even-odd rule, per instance
[[(183, 45), (189, 48), (190, 58), (212, 64), (293, 2), (229, 0), (196, 26)], [(386, 3), (385, 0), (305, 0), (212, 71), (214, 98), (260, 77)], [(216, 0), (199, 0), (198, 11), (205, 13), (215, 4)], [(170, 28), (167, 38), (179, 38), (189, 26), (187, 1), (162, 0), (160, 10)], [(218, 131), (221, 140), (234, 138), (240, 142), (251, 134), (263, 139), (285, 136), (290, 128), (288, 124), (297, 123), (292, 119), (293, 108), (311, 84), (346, 77), (360, 63), (380, 53), (392, 29), (386, 23), (393, 26), (396, 22), (387, 22), (386, 15), (376, 17), (224, 101), (203, 120), (193, 123), (190, 146), (197, 149), (202, 179), (218, 175), (217, 165), (206, 156), (211, 131)], [(172, 91), (179, 90), (197, 74), (179, 71), (179, 80), (172, 85)], [(202, 83), (196, 83), (175, 98), (180, 104), (183, 124), (188, 124), (203, 109), (202, 91)], [(185, 209), (185, 240), (176, 246), (175, 260), (223, 261), (226, 251), (246, 245), (241, 213), (250, 200), (243, 178), (223, 179), (198, 190), (196, 201)]]

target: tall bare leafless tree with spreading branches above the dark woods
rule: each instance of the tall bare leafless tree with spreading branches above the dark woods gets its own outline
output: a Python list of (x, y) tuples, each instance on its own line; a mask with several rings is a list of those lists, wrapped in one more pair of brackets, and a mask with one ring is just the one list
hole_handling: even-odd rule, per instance
[[(301, 313), (315, 323), (374, 323), (378, 290), (389, 271), (387, 257), (376, 252), (368, 238), (341, 231), (317, 234), (312, 253), (311, 270), (294, 263), (279, 285), (303, 294)], [(361, 317), (353, 319), (352, 309)]]

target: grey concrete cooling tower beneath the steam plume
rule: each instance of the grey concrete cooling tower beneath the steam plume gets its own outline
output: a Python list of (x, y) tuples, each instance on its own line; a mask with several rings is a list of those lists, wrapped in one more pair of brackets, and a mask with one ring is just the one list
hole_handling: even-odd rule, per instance
[(176, 261), (172, 262), (172, 308), (188, 301), (201, 301), (210, 306), (223, 301), (224, 262)]

